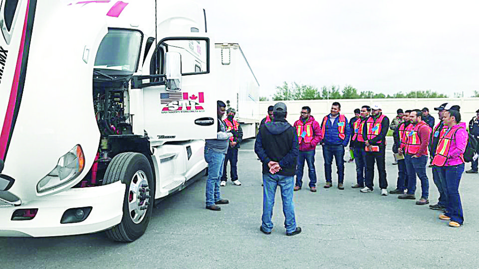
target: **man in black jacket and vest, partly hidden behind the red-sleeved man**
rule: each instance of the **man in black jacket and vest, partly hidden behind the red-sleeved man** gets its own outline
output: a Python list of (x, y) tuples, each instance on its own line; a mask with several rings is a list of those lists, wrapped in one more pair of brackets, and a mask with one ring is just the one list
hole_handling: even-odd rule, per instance
[[(409, 120), (409, 114), (411, 110), (406, 110), (403, 114), (403, 119), (399, 123), (398, 127), (394, 129), (393, 138), (393, 153), (398, 154), (399, 147), (401, 146), (401, 139), (403, 139), (406, 128), (411, 124)], [(406, 170), (406, 162), (404, 158), (398, 160), (398, 183), (396, 189), (390, 191), (391, 194), (404, 194), (404, 189), (408, 186), (408, 172)]]

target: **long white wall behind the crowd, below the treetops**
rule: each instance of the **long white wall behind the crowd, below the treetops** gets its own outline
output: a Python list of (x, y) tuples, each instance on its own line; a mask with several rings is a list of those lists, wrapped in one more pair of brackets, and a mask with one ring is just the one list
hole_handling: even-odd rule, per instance
[[(469, 123), (472, 117), (476, 116), (476, 111), (479, 109), (479, 98), (388, 98), (388, 99), (342, 99), (342, 100), (299, 100), (299, 101), (281, 101), (286, 104), (288, 108), (288, 116), (286, 120), (289, 123), (294, 123), (299, 119), (299, 113), (301, 107), (309, 106), (311, 108), (311, 115), (319, 122), (324, 116), (330, 113), (331, 104), (333, 102), (339, 102), (341, 104), (341, 113), (346, 115), (348, 121), (354, 116), (354, 109), (361, 108), (364, 105), (372, 106), (375, 103), (379, 103), (382, 106), (383, 113), (392, 120), (396, 117), (396, 111), (401, 108), (403, 110), (408, 109), (423, 109), (427, 107), (429, 113), (438, 122), (438, 114), (434, 108), (439, 107), (444, 103), (453, 103), (454, 105), (461, 106), (461, 118), (463, 122)], [(259, 104), (259, 117), (266, 117), (268, 106), (272, 106), (276, 101), (264, 101)]]

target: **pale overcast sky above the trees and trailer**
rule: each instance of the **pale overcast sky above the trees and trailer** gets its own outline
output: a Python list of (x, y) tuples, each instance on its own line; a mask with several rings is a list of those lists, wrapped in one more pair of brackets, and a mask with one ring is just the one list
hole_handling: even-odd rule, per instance
[(479, 90), (479, 1), (198, 0), (269, 96), (286, 82), (385, 94)]

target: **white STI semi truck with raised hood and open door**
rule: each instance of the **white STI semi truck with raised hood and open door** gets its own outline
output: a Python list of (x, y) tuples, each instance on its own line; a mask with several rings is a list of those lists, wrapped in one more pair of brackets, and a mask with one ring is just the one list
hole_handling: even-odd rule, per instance
[(2, 0), (0, 31), (0, 236), (134, 241), (206, 169), (217, 100), (257, 123), (191, 2)]

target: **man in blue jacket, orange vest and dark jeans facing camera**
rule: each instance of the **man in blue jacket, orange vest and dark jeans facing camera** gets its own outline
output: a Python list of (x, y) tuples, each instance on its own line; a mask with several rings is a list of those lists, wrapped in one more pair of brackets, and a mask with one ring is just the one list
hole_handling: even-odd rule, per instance
[(324, 176), (326, 178), (324, 188), (326, 189), (332, 186), (331, 164), (334, 156), (338, 169), (338, 189), (344, 190), (344, 147), (348, 145), (351, 128), (346, 117), (339, 114), (340, 111), (341, 104), (334, 102), (331, 106), (331, 113), (325, 116), (321, 123)]

